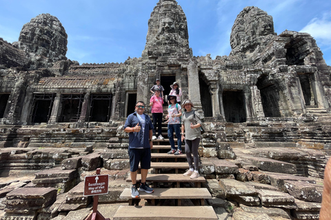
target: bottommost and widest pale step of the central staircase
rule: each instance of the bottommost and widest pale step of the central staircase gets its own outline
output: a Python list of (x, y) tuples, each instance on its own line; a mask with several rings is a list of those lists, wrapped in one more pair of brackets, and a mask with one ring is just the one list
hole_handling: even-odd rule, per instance
[(199, 219), (217, 220), (212, 206), (120, 206), (114, 220)]

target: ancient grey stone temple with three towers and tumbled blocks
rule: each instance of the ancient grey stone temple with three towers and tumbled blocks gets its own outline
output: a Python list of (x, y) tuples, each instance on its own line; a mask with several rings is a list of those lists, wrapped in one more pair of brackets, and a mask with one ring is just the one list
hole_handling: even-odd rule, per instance
[[(98, 167), (126, 179), (123, 123), (137, 100), (148, 103), (157, 78), (164, 94), (178, 82), (182, 100), (190, 98), (204, 120), (199, 155), (214, 210), (225, 199), (234, 219), (254, 219), (252, 213), (267, 212), (261, 206), (285, 210), (284, 219), (318, 218), (331, 149), (331, 68), (316, 41), (307, 33), (275, 33), (272, 17), (250, 6), (234, 21), (232, 52), (212, 59), (194, 56), (188, 25), (177, 1), (160, 0), (141, 57), (123, 63), (70, 61), (66, 30), (50, 14), (23, 25), (17, 42), (0, 39), (0, 176), (35, 174), (27, 186), (43, 199), (54, 196), (52, 188), (58, 198), (67, 193), (61, 205), (45, 199), (52, 210), (36, 205), (25, 212), (14, 199), (28, 193), (26, 184), (17, 194), (3, 189), (2, 219), (50, 219), (86, 208), (91, 199), (79, 182)], [(112, 190), (117, 186), (112, 182)], [(230, 190), (236, 187), (237, 194)], [(103, 202), (121, 201), (115, 194)]]

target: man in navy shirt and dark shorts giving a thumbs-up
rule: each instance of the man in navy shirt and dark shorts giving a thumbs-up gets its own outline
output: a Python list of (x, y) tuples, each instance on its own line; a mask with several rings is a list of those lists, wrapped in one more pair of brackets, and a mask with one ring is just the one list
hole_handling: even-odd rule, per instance
[(141, 185), (139, 190), (152, 193), (154, 190), (146, 184), (148, 169), (150, 168), (150, 150), (153, 148), (153, 124), (150, 116), (143, 113), (145, 103), (138, 101), (135, 112), (128, 115), (124, 131), (129, 133), (130, 176), (132, 181), (131, 197), (138, 198), (137, 170), (141, 166)]

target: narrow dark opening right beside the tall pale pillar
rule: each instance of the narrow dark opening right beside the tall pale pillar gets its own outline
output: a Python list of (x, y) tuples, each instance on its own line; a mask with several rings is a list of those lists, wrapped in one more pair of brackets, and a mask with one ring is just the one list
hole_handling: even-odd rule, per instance
[(199, 74), (199, 87), (202, 110), (205, 117), (212, 117), (212, 96), (209, 91), (209, 86)]

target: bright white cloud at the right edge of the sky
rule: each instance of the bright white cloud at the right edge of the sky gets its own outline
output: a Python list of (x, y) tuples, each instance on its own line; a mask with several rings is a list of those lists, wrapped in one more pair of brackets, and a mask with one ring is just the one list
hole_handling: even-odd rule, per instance
[(299, 32), (309, 33), (323, 45), (331, 45), (331, 12), (323, 14), (321, 19), (310, 20)]

